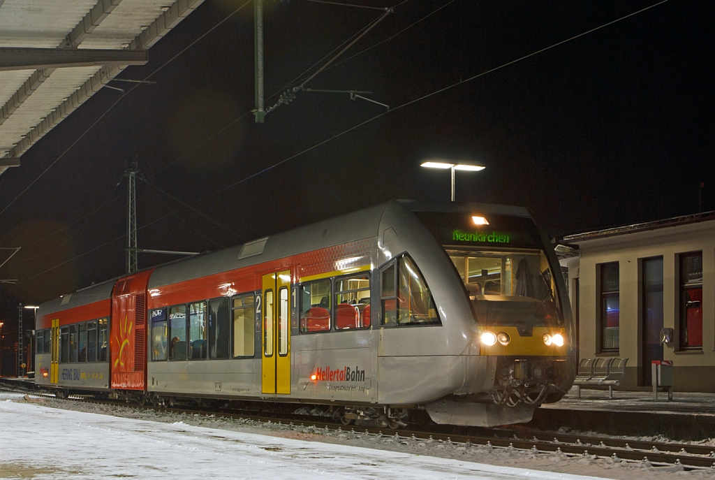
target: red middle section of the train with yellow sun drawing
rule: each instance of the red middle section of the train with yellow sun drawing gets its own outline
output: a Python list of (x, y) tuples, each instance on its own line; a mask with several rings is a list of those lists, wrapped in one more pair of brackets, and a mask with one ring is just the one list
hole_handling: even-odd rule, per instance
[(120, 278), (114, 285), (109, 334), (112, 388), (146, 388), (147, 283), (153, 271), (144, 270)]

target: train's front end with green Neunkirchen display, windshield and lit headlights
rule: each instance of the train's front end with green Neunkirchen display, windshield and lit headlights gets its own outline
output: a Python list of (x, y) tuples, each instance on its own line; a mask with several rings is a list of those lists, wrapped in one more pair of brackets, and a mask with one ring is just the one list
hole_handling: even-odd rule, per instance
[(561, 399), (575, 375), (571, 308), (556, 255), (528, 210), (479, 204), (410, 210), (442, 247), (463, 287), (455, 293), (458, 283), (450, 281), (449, 292), (435, 295), (450, 298), (448, 303), (466, 297), (475, 325), (470, 343), (493, 366), (489, 391), (455, 396), (453, 406), (467, 398), (490, 401), (503, 416), (510, 408), (528, 412)]

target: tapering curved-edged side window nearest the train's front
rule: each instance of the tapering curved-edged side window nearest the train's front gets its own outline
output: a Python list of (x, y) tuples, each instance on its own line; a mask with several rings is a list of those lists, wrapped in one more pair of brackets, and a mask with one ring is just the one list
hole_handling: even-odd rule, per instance
[(425, 279), (408, 255), (382, 273), (383, 325), (440, 325)]

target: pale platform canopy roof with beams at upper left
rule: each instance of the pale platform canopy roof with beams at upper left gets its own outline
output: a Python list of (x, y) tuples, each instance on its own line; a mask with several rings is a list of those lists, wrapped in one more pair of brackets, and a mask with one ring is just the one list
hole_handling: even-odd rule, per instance
[(203, 1), (0, 0), (0, 174)]

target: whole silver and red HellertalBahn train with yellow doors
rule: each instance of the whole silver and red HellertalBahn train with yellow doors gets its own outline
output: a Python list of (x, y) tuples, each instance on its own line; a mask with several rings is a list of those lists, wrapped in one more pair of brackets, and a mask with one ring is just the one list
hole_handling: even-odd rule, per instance
[(391, 200), (123, 275), (42, 303), (35, 344), (57, 396), (390, 428), (527, 422), (576, 371), (548, 237), (526, 208), (480, 203)]

